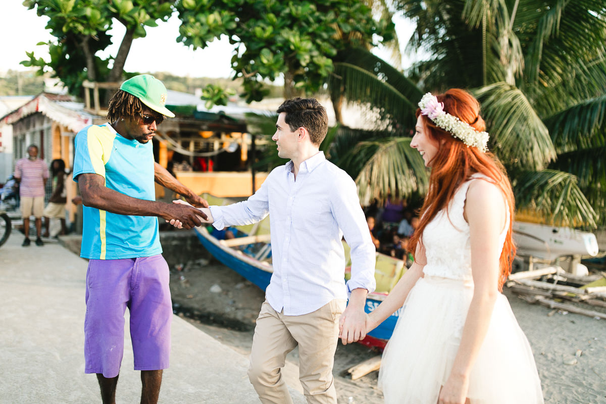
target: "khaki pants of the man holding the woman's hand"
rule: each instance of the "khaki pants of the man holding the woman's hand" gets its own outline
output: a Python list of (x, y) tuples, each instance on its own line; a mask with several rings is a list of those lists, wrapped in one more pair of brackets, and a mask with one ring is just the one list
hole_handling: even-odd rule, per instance
[(284, 316), (267, 300), (255, 327), (248, 379), (264, 404), (293, 402), (281, 368), (286, 355), (299, 346), (299, 380), (308, 403), (336, 404), (333, 363), (339, 340), (339, 317), (345, 300), (335, 299), (313, 313)]

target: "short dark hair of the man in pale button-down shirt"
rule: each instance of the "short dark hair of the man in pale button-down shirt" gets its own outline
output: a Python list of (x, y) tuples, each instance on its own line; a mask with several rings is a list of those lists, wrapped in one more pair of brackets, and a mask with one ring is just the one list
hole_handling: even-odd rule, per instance
[(328, 132), (326, 109), (315, 98), (291, 98), (282, 102), (278, 113), (285, 112), (284, 122), (291, 131), (305, 128), (312, 144), (320, 145)]

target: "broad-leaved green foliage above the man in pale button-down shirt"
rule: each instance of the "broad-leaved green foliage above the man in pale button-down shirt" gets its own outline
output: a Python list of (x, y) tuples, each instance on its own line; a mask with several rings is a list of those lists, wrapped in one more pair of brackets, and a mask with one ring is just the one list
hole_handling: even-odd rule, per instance
[(235, 45), (233, 78), (244, 79), (247, 102), (264, 98), (262, 81), (281, 74), (285, 98), (314, 93), (327, 81), (340, 50), (393, 38), (393, 23), (374, 19), (358, 0), (183, 0), (175, 7), (182, 21), (179, 42), (204, 48), (227, 35)]

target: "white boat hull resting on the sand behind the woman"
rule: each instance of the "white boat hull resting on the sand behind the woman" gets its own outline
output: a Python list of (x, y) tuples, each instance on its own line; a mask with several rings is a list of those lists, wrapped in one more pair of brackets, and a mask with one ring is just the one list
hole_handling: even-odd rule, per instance
[(513, 240), (518, 255), (554, 260), (564, 256), (598, 254), (595, 234), (570, 227), (555, 227), (529, 222), (513, 222)]

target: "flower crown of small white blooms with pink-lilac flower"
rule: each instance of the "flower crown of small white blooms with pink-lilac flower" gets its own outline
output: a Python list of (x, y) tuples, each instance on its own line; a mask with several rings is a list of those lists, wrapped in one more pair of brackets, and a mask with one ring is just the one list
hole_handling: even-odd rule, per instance
[(438, 127), (461, 139), (468, 147), (477, 147), (482, 152), (488, 150), (488, 133), (479, 132), (456, 116), (445, 112), (444, 104), (438, 102), (435, 95), (425, 94), (419, 101), (419, 108), (421, 108), (421, 114), (431, 119)]

